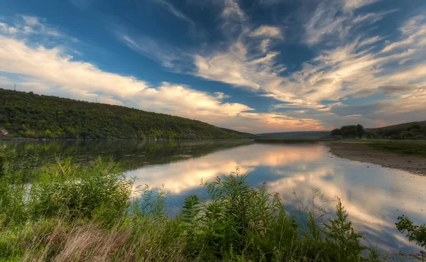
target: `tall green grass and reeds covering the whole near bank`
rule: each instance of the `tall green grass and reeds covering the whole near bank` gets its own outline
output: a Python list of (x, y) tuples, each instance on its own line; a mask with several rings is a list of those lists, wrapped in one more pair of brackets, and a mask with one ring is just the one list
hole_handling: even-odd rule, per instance
[[(337, 202), (335, 218), (289, 216), (246, 174), (204, 182), (165, 212), (165, 192), (137, 188), (110, 160), (34, 168), (0, 148), (0, 261), (378, 261)], [(24, 178), (33, 175), (31, 184)]]

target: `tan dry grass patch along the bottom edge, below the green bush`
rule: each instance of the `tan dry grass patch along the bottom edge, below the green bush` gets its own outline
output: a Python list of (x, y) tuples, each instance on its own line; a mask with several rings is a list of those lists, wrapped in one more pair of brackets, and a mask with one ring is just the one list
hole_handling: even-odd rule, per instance
[(19, 246), (24, 262), (104, 262), (104, 261), (186, 261), (185, 241), (178, 239), (165, 244), (167, 226), (153, 230), (151, 222), (141, 227), (117, 223), (102, 229), (95, 223), (75, 224), (67, 229), (58, 219), (54, 228), (37, 223), (23, 231)]

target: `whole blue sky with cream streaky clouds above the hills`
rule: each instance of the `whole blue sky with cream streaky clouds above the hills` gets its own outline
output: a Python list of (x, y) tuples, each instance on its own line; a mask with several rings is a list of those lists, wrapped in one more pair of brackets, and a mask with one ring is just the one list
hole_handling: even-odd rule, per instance
[(250, 133), (426, 120), (425, 0), (0, 0), (0, 88)]

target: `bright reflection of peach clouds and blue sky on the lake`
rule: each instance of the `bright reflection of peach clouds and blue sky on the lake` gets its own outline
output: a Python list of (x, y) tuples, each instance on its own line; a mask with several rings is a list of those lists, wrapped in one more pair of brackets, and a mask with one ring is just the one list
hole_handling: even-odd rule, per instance
[(324, 194), (327, 213), (334, 212), (335, 196), (339, 196), (359, 231), (366, 232), (369, 246), (382, 251), (415, 252), (420, 249), (409, 243), (395, 229), (400, 214), (417, 223), (426, 220), (426, 177), (399, 170), (381, 168), (332, 156), (324, 145), (263, 145), (252, 144), (217, 151), (168, 165), (148, 165), (129, 172), (138, 183), (165, 187), (172, 193), (170, 204), (179, 207), (190, 194), (207, 197), (201, 180), (212, 180), (228, 174), (236, 166), (250, 171), (249, 182), (268, 182), (279, 192), (288, 209), (297, 209), (298, 200), (312, 202), (312, 188)]

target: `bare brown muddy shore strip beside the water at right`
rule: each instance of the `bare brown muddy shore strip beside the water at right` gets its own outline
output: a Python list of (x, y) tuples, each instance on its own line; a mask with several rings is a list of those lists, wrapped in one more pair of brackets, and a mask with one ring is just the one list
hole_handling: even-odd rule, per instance
[(329, 151), (339, 158), (405, 170), (416, 175), (426, 175), (426, 158), (377, 151), (363, 143), (330, 142), (327, 146), (330, 148)]

